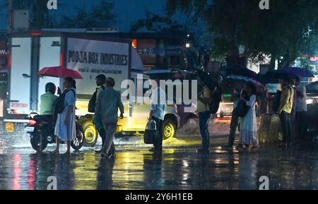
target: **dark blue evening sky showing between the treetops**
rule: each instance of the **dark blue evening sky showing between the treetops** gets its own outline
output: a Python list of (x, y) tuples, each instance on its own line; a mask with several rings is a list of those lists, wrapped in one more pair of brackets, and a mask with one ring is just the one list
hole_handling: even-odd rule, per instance
[[(0, 0), (0, 5), (3, 5), (5, 1), (6, 0)], [(64, 4), (65, 8), (58, 8), (58, 11), (52, 12), (68, 12), (70, 15), (74, 13), (76, 4), (86, 4), (86, 6), (90, 6), (94, 4), (94, 2), (97, 2), (96, 0), (57, 1), (58, 4), (59, 2)], [(146, 10), (158, 14), (164, 13), (165, 0), (115, 0), (114, 2), (114, 13), (115, 16), (117, 16), (117, 25), (114, 25), (114, 27), (119, 28), (121, 31), (129, 30), (131, 23), (134, 23), (139, 18), (143, 18), (145, 16)], [(6, 9), (2, 9), (0, 15), (0, 30), (4, 30), (7, 28)], [(182, 20), (180, 16), (177, 16), (176, 18), (179, 18), (178, 20)]]

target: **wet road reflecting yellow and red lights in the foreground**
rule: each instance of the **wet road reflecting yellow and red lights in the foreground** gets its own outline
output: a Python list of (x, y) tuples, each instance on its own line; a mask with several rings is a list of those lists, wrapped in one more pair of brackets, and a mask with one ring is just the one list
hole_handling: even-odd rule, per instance
[[(101, 160), (92, 148), (71, 157), (37, 154), (28, 143), (0, 147), (0, 189), (258, 189), (269, 177), (270, 189), (318, 189), (317, 150), (261, 146), (256, 152), (220, 150), (226, 138), (211, 138), (208, 155), (197, 155), (199, 137), (172, 139), (163, 155), (148, 152), (138, 138), (117, 139), (114, 160)], [(61, 152), (65, 149), (62, 148)]]

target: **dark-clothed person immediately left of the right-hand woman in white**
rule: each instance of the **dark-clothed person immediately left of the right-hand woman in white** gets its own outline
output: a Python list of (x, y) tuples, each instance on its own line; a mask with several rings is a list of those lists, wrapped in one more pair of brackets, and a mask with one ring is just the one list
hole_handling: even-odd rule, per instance
[(234, 140), (235, 140), (235, 135), (236, 135), (236, 129), (239, 124), (239, 116), (236, 114), (236, 107), (237, 107), (237, 102), (240, 98), (240, 92), (237, 90), (234, 90), (232, 94), (232, 101), (233, 101), (233, 111), (232, 111), (232, 117), (231, 117), (231, 123), (230, 123), (230, 136), (228, 137), (228, 145), (223, 146), (222, 148), (225, 149), (232, 149), (234, 145)]

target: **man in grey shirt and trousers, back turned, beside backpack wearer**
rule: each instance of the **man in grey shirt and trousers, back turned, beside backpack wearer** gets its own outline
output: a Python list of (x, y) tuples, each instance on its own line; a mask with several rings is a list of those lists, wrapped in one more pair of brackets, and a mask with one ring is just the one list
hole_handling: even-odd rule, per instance
[(95, 107), (95, 116), (100, 118), (105, 131), (105, 143), (102, 146), (102, 157), (114, 157), (114, 133), (117, 129), (118, 109), (120, 119), (124, 118), (124, 105), (119, 91), (114, 90), (114, 78), (106, 79), (106, 89), (100, 92)]

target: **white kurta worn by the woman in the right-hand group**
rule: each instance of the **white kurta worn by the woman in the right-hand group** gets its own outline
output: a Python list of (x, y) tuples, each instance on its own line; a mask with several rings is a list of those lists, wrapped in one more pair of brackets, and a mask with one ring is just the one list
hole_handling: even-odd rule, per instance
[(245, 145), (259, 145), (257, 138), (257, 118), (255, 110), (256, 95), (251, 95), (246, 102), (249, 112), (240, 122), (240, 143)]

